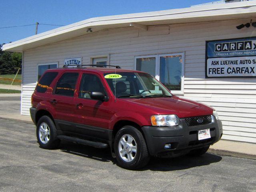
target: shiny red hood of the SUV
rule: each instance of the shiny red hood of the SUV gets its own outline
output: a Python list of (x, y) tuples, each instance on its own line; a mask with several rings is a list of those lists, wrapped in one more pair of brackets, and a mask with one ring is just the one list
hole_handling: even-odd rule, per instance
[(214, 108), (189, 99), (173, 97), (124, 98), (154, 114), (175, 114), (179, 118), (212, 115)]

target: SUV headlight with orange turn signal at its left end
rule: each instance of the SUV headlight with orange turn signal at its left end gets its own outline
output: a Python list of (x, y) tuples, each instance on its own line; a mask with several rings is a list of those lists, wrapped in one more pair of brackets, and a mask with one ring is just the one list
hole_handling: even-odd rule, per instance
[(150, 119), (153, 126), (177, 126), (180, 121), (176, 115), (152, 115)]

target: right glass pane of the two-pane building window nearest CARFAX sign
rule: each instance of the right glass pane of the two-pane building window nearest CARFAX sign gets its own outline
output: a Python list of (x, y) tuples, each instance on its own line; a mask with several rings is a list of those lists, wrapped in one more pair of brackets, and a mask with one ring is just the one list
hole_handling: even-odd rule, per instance
[(181, 90), (182, 55), (160, 57), (160, 82), (169, 90)]

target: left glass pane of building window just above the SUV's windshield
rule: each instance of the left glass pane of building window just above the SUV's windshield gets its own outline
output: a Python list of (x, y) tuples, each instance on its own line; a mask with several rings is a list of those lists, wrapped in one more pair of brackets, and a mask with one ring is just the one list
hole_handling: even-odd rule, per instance
[(136, 59), (136, 70), (144, 71), (153, 77), (156, 76), (156, 58), (146, 57)]

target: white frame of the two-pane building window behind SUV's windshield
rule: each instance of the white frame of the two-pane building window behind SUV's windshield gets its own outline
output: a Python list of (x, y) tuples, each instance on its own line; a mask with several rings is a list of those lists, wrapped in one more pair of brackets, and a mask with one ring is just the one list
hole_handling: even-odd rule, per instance
[(185, 63), (185, 54), (184, 54), (184, 52), (134, 56), (134, 70), (136, 70), (136, 65), (137, 65), (136, 60), (137, 60), (137, 58), (154, 57), (154, 58), (156, 58), (156, 76), (154, 78), (156, 78), (158, 81), (160, 81), (160, 57), (162, 57), (162, 56), (175, 56), (175, 55), (181, 55), (182, 56), (181, 88), (180, 88), (180, 90), (170, 90), (170, 91), (172, 92), (172, 94), (184, 94), (184, 68), (185, 68), (185, 65), (184, 65), (184, 63)]

